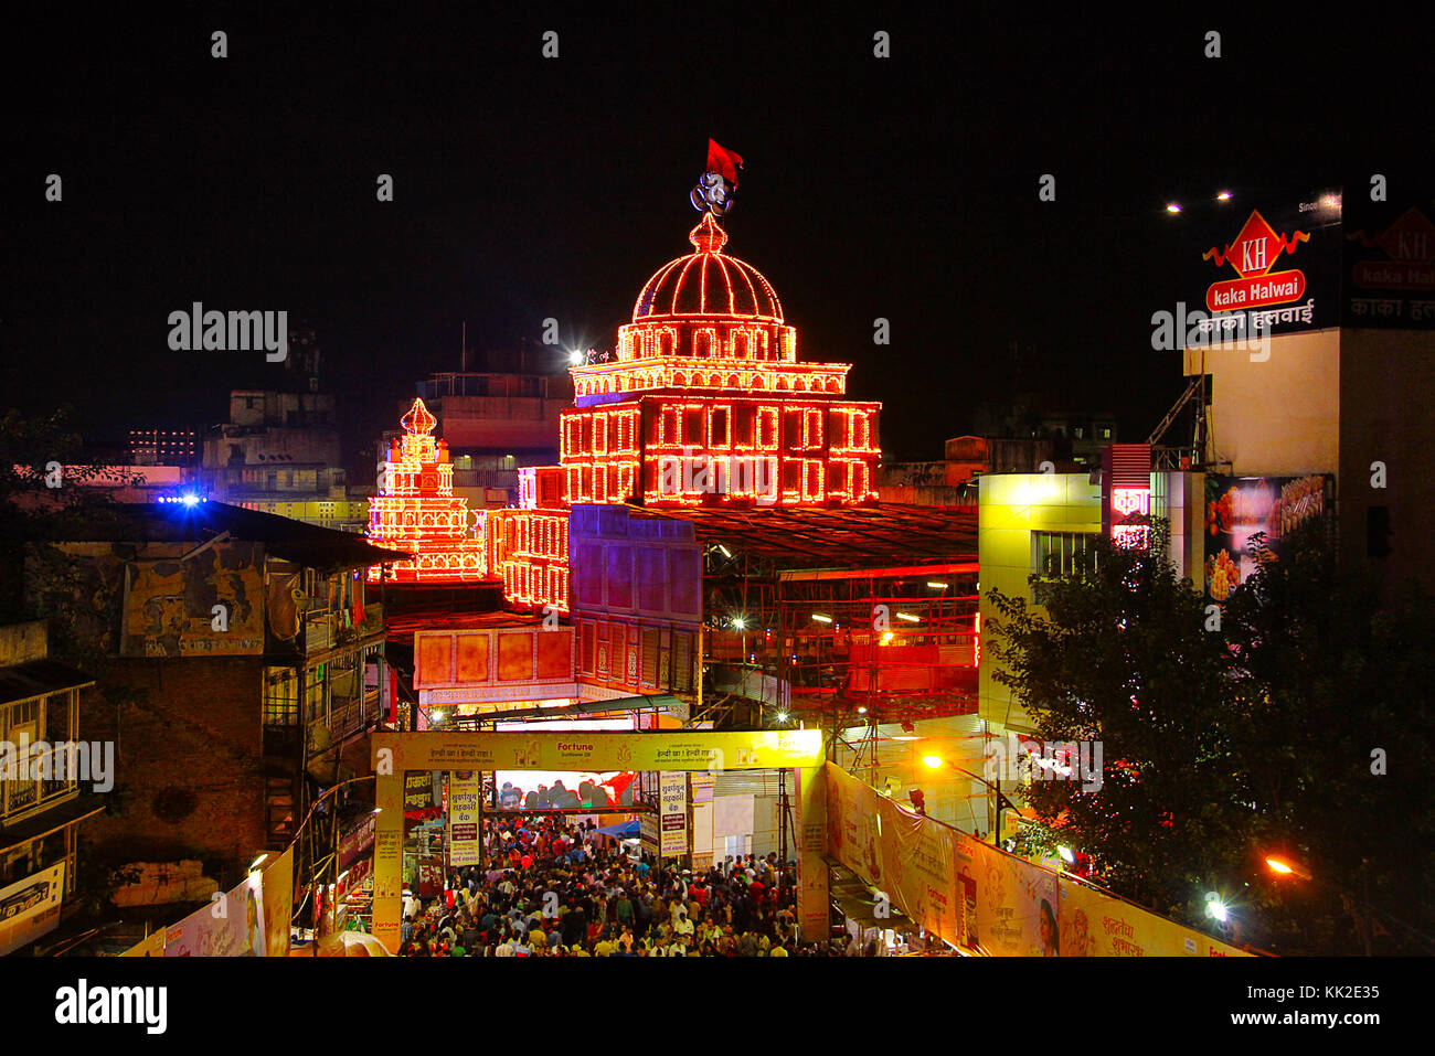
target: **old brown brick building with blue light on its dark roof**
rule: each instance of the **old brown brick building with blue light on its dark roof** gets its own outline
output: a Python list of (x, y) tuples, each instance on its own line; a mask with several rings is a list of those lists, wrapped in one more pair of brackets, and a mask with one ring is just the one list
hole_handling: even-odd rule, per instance
[(212, 501), (122, 511), (55, 539), (118, 611), (102, 687), (122, 703), (82, 712), (121, 746), (126, 808), (93, 845), (232, 877), (288, 845), (317, 789), (367, 769), (389, 679), (364, 570), (402, 555)]

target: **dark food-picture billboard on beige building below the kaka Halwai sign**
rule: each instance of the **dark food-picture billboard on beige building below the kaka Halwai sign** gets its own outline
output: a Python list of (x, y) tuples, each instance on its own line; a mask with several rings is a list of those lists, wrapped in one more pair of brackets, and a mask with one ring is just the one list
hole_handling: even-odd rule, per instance
[(1333, 478), (1215, 476), (1205, 478), (1205, 593), (1225, 601), (1256, 571), (1254, 537), (1263, 534), (1270, 552), (1296, 525), (1330, 509)]

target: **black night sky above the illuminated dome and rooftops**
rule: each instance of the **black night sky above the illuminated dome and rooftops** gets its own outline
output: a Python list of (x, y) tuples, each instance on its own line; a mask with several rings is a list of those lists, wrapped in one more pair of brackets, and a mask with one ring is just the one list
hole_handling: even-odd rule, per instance
[[(565, 343), (611, 347), (647, 277), (690, 251), (713, 136), (746, 162), (728, 251), (778, 290), (802, 359), (854, 364), (891, 456), (940, 458), (1017, 383), (1144, 439), (1182, 389), (1149, 341), (1181, 225), (1217, 189), (1238, 208), (1339, 184), (1431, 133), (1428, 26), (587, 10), (10, 27), (0, 407), (70, 403), (95, 440), (202, 429), (280, 367), (171, 352), (168, 314), (286, 308), (317, 327), (352, 458), (416, 380), (459, 367), (465, 319), (478, 349), (550, 316)], [(1194, 205), (1172, 218), (1170, 199)]]

